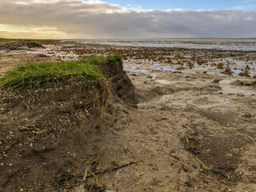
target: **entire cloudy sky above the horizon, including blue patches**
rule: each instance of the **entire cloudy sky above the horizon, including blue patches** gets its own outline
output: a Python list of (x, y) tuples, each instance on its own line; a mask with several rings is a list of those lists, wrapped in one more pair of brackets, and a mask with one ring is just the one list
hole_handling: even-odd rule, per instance
[(0, 38), (256, 38), (256, 0), (0, 0)]

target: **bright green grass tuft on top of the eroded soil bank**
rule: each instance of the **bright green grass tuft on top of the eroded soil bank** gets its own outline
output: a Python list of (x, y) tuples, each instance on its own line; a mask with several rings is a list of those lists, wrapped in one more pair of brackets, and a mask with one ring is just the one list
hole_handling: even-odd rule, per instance
[(110, 81), (102, 73), (102, 65), (115, 63), (121, 56), (91, 56), (79, 61), (69, 62), (27, 62), (6, 72), (0, 78), (0, 89), (34, 90), (38, 86), (49, 86), (51, 83), (85, 82), (86, 85), (109, 85)]

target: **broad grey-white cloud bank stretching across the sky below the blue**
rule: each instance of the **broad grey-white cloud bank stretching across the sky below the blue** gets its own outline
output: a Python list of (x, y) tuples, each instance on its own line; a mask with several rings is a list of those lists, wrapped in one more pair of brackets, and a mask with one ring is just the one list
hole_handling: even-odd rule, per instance
[(94, 0), (0, 0), (0, 24), (54, 29), (59, 38), (256, 37), (252, 10), (142, 10)]

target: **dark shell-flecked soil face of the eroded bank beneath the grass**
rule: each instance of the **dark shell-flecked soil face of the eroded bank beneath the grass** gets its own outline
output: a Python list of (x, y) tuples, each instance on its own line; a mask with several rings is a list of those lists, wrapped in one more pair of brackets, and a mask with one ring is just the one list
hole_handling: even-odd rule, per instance
[[(136, 102), (121, 58), (101, 65), (112, 80), (112, 97), (118, 102)], [(99, 113), (109, 97), (101, 87), (82, 82), (32, 93), (1, 90), (0, 190), (62, 190), (69, 188), (66, 180), (74, 187), (81, 178), (70, 169), (87, 157), (90, 132), (100, 125)]]

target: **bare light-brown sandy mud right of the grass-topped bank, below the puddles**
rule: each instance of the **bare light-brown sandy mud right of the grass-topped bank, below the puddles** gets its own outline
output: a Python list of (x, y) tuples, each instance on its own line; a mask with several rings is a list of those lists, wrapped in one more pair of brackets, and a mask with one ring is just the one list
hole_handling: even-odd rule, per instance
[[(96, 145), (106, 154), (102, 165), (131, 159), (140, 164), (105, 174), (100, 181), (120, 191), (254, 191), (254, 95), (223, 94), (222, 85), (210, 81), (215, 76), (203, 73), (158, 76), (174, 83), (130, 74), (142, 99), (138, 109), (110, 102), (114, 112), (107, 112), (102, 125), (102, 132), (110, 134)], [(247, 91), (255, 93), (255, 87)], [(110, 115), (116, 117), (113, 122)], [(200, 154), (186, 150), (186, 137)], [(224, 176), (206, 171), (199, 160)], [(235, 170), (218, 169), (226, 165)]]

